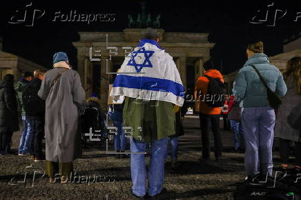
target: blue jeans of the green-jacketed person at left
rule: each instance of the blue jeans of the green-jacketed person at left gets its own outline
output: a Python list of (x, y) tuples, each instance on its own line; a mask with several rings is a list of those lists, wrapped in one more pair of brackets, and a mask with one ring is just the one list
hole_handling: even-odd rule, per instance
[(19, 154), (32, 153), (32, 137), (33, 127), (29, 121), (26, 120), (26, 116), (22, 116), (23, 128), (19, 144)]

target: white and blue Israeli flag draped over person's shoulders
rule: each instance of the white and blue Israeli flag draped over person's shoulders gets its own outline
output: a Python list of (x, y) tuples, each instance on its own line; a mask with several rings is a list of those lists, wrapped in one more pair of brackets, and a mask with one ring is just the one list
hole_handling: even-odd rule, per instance
[(126, 57), (113, 83), (110, 96), (184, 103), (184, 87), (173, 57), (156, 41), (142, 39)]

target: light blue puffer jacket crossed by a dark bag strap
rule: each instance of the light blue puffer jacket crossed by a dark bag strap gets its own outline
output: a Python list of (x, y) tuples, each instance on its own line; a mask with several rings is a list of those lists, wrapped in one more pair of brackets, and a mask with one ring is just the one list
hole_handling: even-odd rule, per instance
[(266, 54), (255, 53), (252, 57), (249, 57), (240, 69), (240, 72), (238, 72), (235, 86), (232, 90), (236, 97), (242, 99), (240, 103), (241, 107), (269, 106), (266, 88), (255, 70), (249, 66), (250, 64), (259, 70), (271, 90), (276, 92), (280, 97), (283, 97), (287, 93), (287, 86), (278, 68), (269, 64), (269, 58)]

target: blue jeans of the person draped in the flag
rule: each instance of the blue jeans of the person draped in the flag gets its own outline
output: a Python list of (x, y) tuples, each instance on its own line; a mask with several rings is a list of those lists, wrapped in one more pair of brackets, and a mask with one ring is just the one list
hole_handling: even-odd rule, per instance
[[(150, 166), (148, 171), (148, 195), (155, 196), (162, 190), (164, 182), (164, 157), (168, 137), (150, 143)], [(130, 140), (130, 173), (133, 181), (133, 193), (139, 197), (146, 194), (145, 154), (133, 154), (146, 151), (146, 143)]]

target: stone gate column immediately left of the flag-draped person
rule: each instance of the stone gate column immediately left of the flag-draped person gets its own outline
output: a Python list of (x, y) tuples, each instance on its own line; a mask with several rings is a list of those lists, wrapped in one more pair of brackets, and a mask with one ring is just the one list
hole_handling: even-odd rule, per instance
[(108, 85), (109, 79), (108, 74), (106, 74), (106, 60), (107, 56), (101, 56), (100, 61), (100, 101), (101, 109), (105, 112), (108, 110)]

